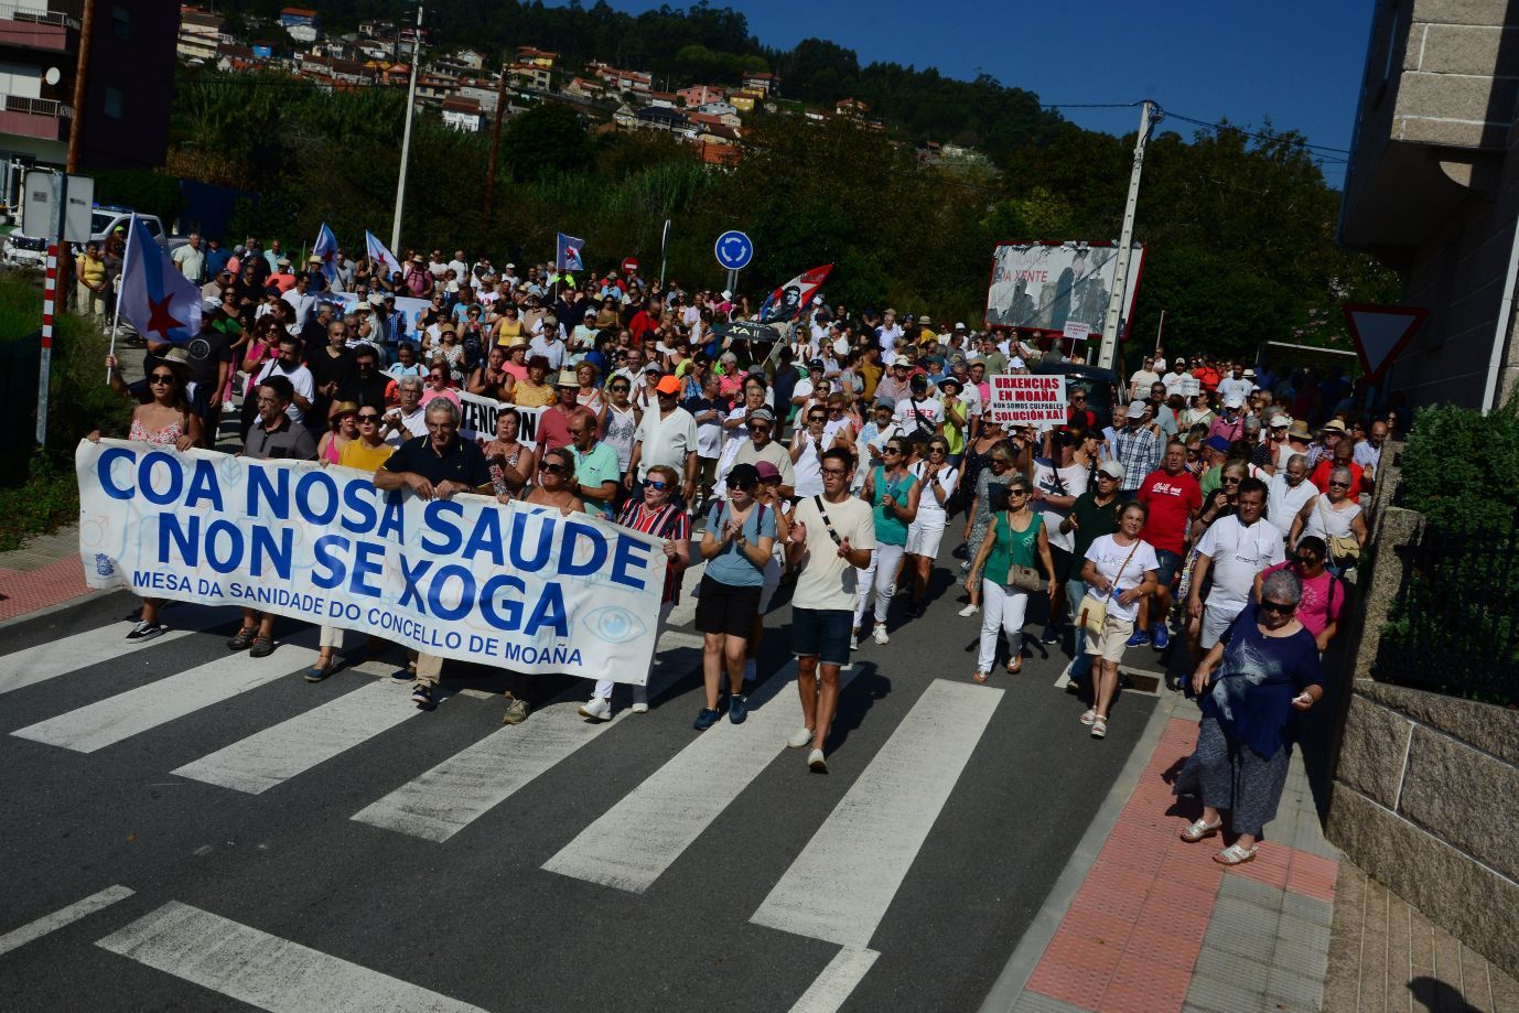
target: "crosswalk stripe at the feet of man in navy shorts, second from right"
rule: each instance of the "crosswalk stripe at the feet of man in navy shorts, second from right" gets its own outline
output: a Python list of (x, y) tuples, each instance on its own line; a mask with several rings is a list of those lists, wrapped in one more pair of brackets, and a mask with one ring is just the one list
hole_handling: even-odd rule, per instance
[[(544, 863), (548, 872), (643, 893), (722, 816), (802, 726), (796, 664), (752, 696), (743, 724), (718, 720)], [(849, 674), (840, 682), (848, 685)], [(801, 758), (797, 759), (801, 764)]]

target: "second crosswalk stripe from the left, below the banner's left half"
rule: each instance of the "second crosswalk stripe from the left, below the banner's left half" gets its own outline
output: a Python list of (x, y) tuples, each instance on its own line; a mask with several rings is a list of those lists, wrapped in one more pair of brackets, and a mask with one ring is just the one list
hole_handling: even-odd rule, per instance
[[(316, 639), (316, 629), (296, 633), (295, 641)], [(125, 738), (173, 721), (201, 708), (229, 700), (266, 682), (289, 676), (298, 652), (275, 650), (267, 658), (228, 655), (179, 674), (118, 693), (97, 703), (11, 732), (81, 753), (112, 746)]]

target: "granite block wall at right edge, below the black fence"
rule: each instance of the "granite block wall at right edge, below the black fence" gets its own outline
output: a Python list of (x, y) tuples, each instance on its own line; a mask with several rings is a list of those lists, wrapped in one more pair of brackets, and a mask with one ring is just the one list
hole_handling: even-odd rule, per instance
[[(1326, 834), (1361, 869), (1519, 977), (1519, 711), (1370, 679), (1423, 516), (1391, 504), (1401, 445), (1378, 475), (1361, 577), (1355, 679)], [(1385, 484), (1384, 484), (1385, 481)]]

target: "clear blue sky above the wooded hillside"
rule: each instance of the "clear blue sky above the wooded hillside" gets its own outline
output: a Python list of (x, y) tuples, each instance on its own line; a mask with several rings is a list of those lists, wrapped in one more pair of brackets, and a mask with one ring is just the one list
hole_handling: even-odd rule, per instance
[[(658, 0), (609, 0), (646, 11)], [(1154, 99), (1197, 120), (1227, 117), (1302, 131), (1311, 144), (1347, 149), (1370, 35), (1373, 0), (712, 0), (749, 18), (766, 46), (828, 38), (861, 64), (937, 67), (954, 77), (984, 70), (1044, 102)], [(688, 6), (671, 0), (670, 6)], [(784, 84), (782, 84), (784, 88)], [(1130, 109), (1065, 109), (1095, 131), (1124, 134)], [(1171, 121), (1185, 137), (1192, 126)], [(1335, 187), (1340, 164), (1325, 164)]]

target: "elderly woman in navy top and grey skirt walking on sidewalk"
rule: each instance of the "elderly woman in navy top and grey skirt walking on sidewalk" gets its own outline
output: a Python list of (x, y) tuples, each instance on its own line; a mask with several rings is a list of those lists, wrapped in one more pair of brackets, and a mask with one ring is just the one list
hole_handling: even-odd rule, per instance
[(1218, 834), (1220, 811), (1229, 809), (1238, 838), (1214, 855), (1224, 866), (1255, 858), (1261, 829), (1282, 799), (1296, 714), (1323, 696), (1318, 644), (1297, 620), (1302, 597), (1293, 573), (1270, 574), (1261, 603), (1246, 606), (1192, 673), (1203, 721), (1174, 793), (1200, 796), (1203, 816), (1182, 831), (1182, 840)]

